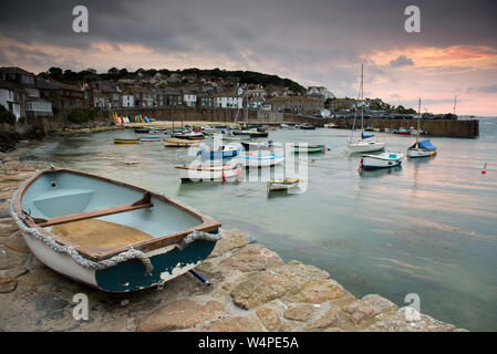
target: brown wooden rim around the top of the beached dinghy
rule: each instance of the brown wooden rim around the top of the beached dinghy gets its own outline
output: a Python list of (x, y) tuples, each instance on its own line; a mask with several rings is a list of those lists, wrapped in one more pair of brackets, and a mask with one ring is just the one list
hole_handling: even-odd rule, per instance
[[(21, 200), (22, 197), (24, 196), (24, 192), (28, 190), (28, 188), (35, 181), (38, 180), (41, 176), (45, 175), (45, 174), (53, 174), (53, 173), (68, 173), (68, 174), (74, 174), (74, 175), (79, 175), (79, 176), (83, 176), (83, 177), (87, 177), (87, 178), (94, 178), (94, 179), (99, 179), (105, 183), (111, 183), (114, 185), (118, 185), (125, 188), (130, 188), (130, 189), (134, 189), (137, 191), (142, 191), (142, 192), (149, 192), (151, 197), (154, 197), (156, 199), (159, 199), (162, 201), (168, 202), (170, 205), (173, 205), (176, 208), (179, 208), (184, 211), (189, 212), (190, 215), (193, 215), (195, 218), (201, 220), (201, 223), (194, 227), (194, 228), (189, 228), (186, 230), (182, 230), (178, 232), (173, 232), (173, 233), (168, 233), (168, 235), (164, 235), (161, 237), (156, 237), (153, 238), (152, 240), (146, 240), (146, 241), (142, 241), (142, 242), (137, 242), (137, 243), (132, 243), (132, 244), (127, 244), (127, 246), (122, 246), (122, 247), (116, 247), (116, 248), (110, 248), (110, 249), (96, 249), (96, 248), (90, 248), (90, 247), (82, 247), (72, 242), (66, 241), (65, 239), (58, 237), (56, 235), (53, 235), (50, 231), (46, 231), (45, 229), (43, 229), (40, 225), (38, 225), (32, 218), (24, 216), (23, 211), (22, 211), (22, 207), (21, 207)], [(135, 249), (135, 250), (139, 250), (143, 252), (149, 252), (153, 250), (157, 250), (167, 246), (172, 246), (175, 244), (179, 241), (182, 241), (186, 236), (188, 236), (189, 233), (194, 232), (194, 231), (204, 231), (204, 232), (209, 232), (209, 231), (214, 231), (217, 230), (221, 227), (221, 223), (214, 220), (213, 218), (201, 215), (199, 211), (195, 210), (191, 207), (187, 207), (180, 202), (177, 202), (166, 196), (162, 196), (158, 195), (154, 191), (147, 190), (145, 188), (142, 187), (137, 187), (137, 186), (133, 186), (133, 185), (128, 185), (126, 183), (123, 181), (118, 181), (118, 180), (114, 180), (107, 177), (102, 177), (102, 176), (95, 176), (95, 175), (91, 175), (91, 174), (86, 174), (83, 171), (77, 171), (77, 170), (72, 170), (72, 169), (68, 169), (68, 168), (48, 168), (44, 169), (42, 171), (37, 173), (27, 184), (24, 184), (21, 189), (19, 190), (19, 192), (17, 194), (17, 197), (13, 201), (13, 207), (14, 207), (14, 211), (17, 214), (17, 216), (20, 218), (20, 220), (22, 222), (24, 222), (24, 225), (27, 225), (30, 228), (35, 229), (37, 231), (39, 231), (40, 233), (48, 236), (50, 238), (52, 238), (54, 241), (56, 241), (58, 243), (62, 244), (62, 246), (70, 246), (73, 247), (77, 252), (80, 252), (82, 256), (93, 260), (93, 261), (102, 261), (108, 258), (112, 258), (114, 256), (117, 256), (122, 252), (125, 252), (130, 249)]]

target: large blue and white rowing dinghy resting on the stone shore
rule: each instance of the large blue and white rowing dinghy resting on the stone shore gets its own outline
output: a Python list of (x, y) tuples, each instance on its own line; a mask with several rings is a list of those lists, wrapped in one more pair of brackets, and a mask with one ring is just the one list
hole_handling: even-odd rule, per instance
[(108, 292), (162, 285), (221, 238), (219, 222), (165, 196), (54, 167), (24, 183), (10, 211), (41, 262)]

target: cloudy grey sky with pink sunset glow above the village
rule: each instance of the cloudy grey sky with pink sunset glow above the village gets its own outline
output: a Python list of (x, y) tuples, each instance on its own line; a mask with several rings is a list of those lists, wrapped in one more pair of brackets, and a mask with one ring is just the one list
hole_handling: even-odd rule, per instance
[[(74, 33), (72, 10), (90, 13)], [(421, 10), (407, 33), (404, 10)], [(497, 116), (497, 1), (2, 1), (0, 65), (251, 70), (423, 111)]]

